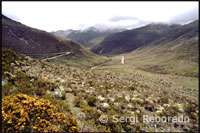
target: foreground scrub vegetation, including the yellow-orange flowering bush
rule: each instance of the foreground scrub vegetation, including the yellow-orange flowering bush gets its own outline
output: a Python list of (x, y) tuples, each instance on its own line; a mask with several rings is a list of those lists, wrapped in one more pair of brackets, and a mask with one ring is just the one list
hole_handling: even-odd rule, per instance
[[(94, 69), (79, 69), (35, 60), (2, 49), (4, 131), (8, 127), (11, 127), (12, 131), (15, 130), (14, 120), (21, 120), (23, 117), (25, 121), (19, 124), (18, 130), (53, 131), (53, 127), (47, 123), (52, 124), (51, 117), (57, 117), (56, 114), (62, 114), (61, 120), (64, 119), (67, 123), (53, 123), (58, 131), (199, 130), (198, 88), (190, 88), (176, 82), (173, 78), (179, 78), (177, 75), (153, 74), (132, 67), (118, 70), (128, 66), (112, 66), (112, 63), (115, 63), (114, 58), (111, 64), (107, 63)], [(13, 104), (15, 100), (18, 100), (19, 104)], [(34, 102), (37, 103), (36, 108), (30, 108)], [(9, 106), (13, 110), (10, 110)], [(48, 107), (52, 109), (49, 110), (50, 114), (45, 109)], [(24, 109), (24, 115), (15, 114), (19, 113), (16, 108)], [(36, 109), (41, 110), (40, 113)], [(39, 117), (46, 121), (45, 125), (35, 123), (37, 130), (28, 123), (28, 117), (30, 122), (37, 119), (36, 115), (30, 116), (35, 110), (35, 114), (39, 114)], [(101, 115), (109, 117), (106, 123), (99, 121)], [(138, 122), (114, 122), (113, 115), (138, 116)], [(144, 123), (143, 115), (187, 116), (190, 122)]]

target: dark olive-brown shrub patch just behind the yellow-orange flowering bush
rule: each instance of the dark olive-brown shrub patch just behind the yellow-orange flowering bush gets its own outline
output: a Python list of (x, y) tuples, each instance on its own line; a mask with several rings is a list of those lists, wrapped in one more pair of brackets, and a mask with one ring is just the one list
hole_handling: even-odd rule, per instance
[(54, 90), (54, 88), (58, 87), (52, 82), (42, 81), (37, 77), (29, 76), (20, 71), (16, 72), (15, 75), (16, 77), (8, 80), (8, 84), (2, 86), (3, 96), (17, 93), (43, 96), (46, 90)]

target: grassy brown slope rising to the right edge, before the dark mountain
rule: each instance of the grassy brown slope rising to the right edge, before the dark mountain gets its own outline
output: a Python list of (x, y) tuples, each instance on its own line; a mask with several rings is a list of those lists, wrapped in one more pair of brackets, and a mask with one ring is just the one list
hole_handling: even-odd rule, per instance
[(198, 77), (198, 21), (124, 54), (125, 62), (143, 70)]

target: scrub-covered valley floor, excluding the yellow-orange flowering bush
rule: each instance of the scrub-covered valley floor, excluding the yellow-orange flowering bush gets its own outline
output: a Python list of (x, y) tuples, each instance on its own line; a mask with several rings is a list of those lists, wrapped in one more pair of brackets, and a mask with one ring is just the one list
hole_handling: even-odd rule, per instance
[[(6, 55), (3, 56), (3, 62), (13, 58), (9, 56), (12, 54), (6, 54), (9, 51), (2, 52)], [(37, 77), (39, 82), (53, 83), (54, 89), (47, 86), (39, 97), (56, 100), (54, 103), (59, 109), (75, 116), (79, 131), (198, 130), (198, 78), (146, 72), (127, 64), (126, 56), (125, 64), (121, 64), (121, 57), (112, 57), (112, 61), (94, 69), (67, 67), (29, 57), (22, 59), (12, 60), (9, 69), (4, 67), (6, 62), (3, 63), (3, 97), (17, 93), (40, 94), (29, 88), (36, 81), (31, 83), (25, 78), (21, 78), (23, 82), (19, 81), (15, 78), (18, 73)], [(184, 80), (187, 82), (184, 83)], [(23, 89), (20, 89), (22, 86)], [(124, 117), (138, 116), (140, 120), (134, 125), (113, 123), (111, 116), (115, 114)], [(182, 124), (142, 122), (143, 115), (153, 114), (184, 115), (191, 121)], [(108, 115), (110, 121), (101, 123), (101, 115)]]

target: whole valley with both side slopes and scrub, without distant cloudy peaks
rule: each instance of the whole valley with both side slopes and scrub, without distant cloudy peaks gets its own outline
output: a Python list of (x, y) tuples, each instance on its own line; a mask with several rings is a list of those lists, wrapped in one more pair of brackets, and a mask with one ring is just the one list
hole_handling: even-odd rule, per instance
[[(3, 131), (199, 131), (198, 21), (92, 37), (86, 42), (98, 55), (2, 20)], [(171, 119), (144, 122), (144, 116)]]

